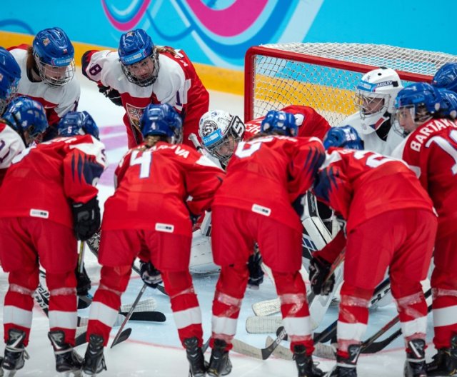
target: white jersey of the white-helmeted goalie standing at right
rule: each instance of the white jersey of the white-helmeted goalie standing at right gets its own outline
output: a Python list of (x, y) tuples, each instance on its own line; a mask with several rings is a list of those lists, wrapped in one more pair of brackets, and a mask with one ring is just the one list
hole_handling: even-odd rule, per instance
[(371, 134), (363, 134), (361, 129), (361, 120), (360, 114), (356, 112), (351, 116), (348, 116), (341, 124), (338, 124), (337, 127), (342, 126), (353, 126), (354, 129), (358, 132), (358, 136), (363, 140), (363, 149), (367, 151), (373, 151), (378, 154), (383, 154), (384, 156), (391, 156), (393, 149), (398, 146), (403, 141), (403, 137), (398, 134), (394, 129), (393, 126), (388, 131), (386, 141), (383, 141), (379, 138), (376, 132), (372, 132)]

